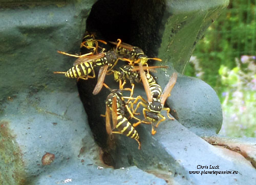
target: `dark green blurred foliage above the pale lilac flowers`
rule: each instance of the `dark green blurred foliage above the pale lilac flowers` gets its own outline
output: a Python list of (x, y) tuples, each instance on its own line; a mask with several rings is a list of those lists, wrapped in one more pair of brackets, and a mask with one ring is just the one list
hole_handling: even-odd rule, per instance
[[(200, 59), (200, 66), (204, 70), (202, 80), (219, 90), (218, 70), (221, 65), (232, 69), (236, 66), (234, 58), (255, 55), (255, 35), (255, 1), (230, 0), (228, 8), (206, 31), (194, 51), (193, 55)], [(193, 69), (188, 67), (185, 74), (193, 74)]]

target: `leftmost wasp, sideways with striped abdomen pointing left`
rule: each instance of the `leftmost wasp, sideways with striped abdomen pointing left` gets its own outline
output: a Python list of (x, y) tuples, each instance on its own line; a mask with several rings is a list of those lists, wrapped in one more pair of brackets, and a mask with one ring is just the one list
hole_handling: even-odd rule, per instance
[[(109, 66), (113, 67), (116, 65), (118, 58), (114, 51), (102, 52), (101, 54), (91, 55), (85, 54), (81, 56), (67, 54), (66, 52), (58, 51), (60, 54), (68, 55), (72, 57), (77, 57), (74, 66), (70, 68), (67, 72), (55, 71), (54, 73), (65, 74), (65, 76), (70, 78), (81, 78), (87, 80), (88, 78), (95, 77), (95, 66), (103, 66), (104, 71), (108, 69)], [(89, 75), (92, 72), (92, 76)]]

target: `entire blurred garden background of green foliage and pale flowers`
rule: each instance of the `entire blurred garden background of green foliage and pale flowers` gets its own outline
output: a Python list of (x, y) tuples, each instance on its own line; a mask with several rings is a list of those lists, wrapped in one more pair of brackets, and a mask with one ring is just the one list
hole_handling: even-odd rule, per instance
[(185, 74), (214, 88), (221, 135), (256, 137), (256, 0), (230, 0), (197, 44)]

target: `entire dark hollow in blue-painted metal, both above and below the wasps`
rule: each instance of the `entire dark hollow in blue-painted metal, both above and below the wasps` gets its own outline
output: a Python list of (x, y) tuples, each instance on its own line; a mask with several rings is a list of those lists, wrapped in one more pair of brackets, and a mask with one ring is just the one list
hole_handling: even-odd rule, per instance
[[(86, 30), (105, 41), (120, 38), (125, 43), (142, 48), (148, 57), (156, 57), (162, 38), (159, 27), (165, 9), (164, 2), (99, 0), (91, 9)], [(95, 140), (104, 150), (108, 135), (105, 131), (105, 118), (100, 114), (105, 114), (105, 98), (110, 92), (103, 88), (98, 95), (93, 95), (96, 83), (97, 77), (87, 81), (79, 80), (77, 85)], [(118, 88), (112, 75), (106, 77), (105, 83), (112, 89)]]

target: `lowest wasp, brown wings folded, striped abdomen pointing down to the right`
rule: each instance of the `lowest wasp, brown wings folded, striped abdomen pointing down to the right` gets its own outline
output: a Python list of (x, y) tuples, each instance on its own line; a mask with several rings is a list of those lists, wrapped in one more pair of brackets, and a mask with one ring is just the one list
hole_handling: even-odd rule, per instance
[[(104, 84), (104, 86), (106, 86)], [(132, 118), (139, 120), (134, 117), (128, 105), (124, 101), (124, 97), (122, 95), (123, 89), (115, 89), (111, 90), (111, 93), (106, 97), (106, 132), (111, 134), (123, 134), (127, 137), (135, 139), (138, 143), (138, 149), (141, 148), (141, 143), (139, 140), (139, 134), (137, 130), (133, 127), (133, 125), (129, 122), (129, 120), (125, 117), (125, 114), (129, 112)], [(112, 125), (111, 125), (111, 117), (112, 117)], [(140, 120), (141, 121), (141, 120)], [(113, 131), (117, 129), (118, 131)]]

